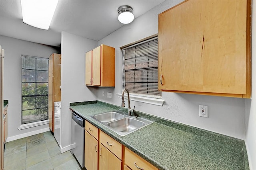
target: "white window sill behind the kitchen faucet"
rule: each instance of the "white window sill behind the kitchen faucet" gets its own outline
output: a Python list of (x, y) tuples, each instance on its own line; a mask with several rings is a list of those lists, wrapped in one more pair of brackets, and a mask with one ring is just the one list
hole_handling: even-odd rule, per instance
[[(118, 93), (117, 94), (118, 98), (122, 98), (122, 94)], [(163, 106), (165, 100), (158, 99), (158, 98), (149, 98), (149, 97), (144, 97), (144, 96), (136, 96), (136, 95), (129, 95), (130, 100), (136, 101), (136, 102), (142, 102), (142, 103), (147, 103), (147, 104), (153, 104), (157, 106)], [(127, 94), (124, 94), (124, 98), (127, 99)]]

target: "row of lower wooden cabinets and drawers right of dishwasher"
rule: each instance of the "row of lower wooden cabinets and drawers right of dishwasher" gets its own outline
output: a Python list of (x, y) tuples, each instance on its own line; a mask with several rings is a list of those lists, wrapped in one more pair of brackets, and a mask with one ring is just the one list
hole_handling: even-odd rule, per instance
[(87, 170), (158, 170), (88, 121), (86, 126), (84, 166)]

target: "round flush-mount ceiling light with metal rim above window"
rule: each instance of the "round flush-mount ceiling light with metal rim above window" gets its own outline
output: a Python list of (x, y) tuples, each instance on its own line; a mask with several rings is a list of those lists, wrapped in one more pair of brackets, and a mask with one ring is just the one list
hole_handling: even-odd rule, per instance
[(128, 5), (123, 5), (118, 8), (118, 21), (127, 24), (134, 20), (133, 9)]

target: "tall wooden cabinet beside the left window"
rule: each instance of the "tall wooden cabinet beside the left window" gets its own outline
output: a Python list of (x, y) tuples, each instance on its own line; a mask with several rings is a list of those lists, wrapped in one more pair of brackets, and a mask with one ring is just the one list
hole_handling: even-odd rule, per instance
[(61, 55), (53, 53), (48, 66), (48, 118), (49, 128), (54, 132), (54, 102), (61, 101)]

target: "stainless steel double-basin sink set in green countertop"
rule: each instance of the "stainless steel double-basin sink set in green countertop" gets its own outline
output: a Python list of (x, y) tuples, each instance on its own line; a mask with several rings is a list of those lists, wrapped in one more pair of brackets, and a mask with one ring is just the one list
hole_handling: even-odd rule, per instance
[(120, 111), (109, 111), (98, 115), (92, 115), (91, 117), (121, 136), (128, 135), (129, 133), (153, 123), (152, 121), (141, 117), (124, 115)]

